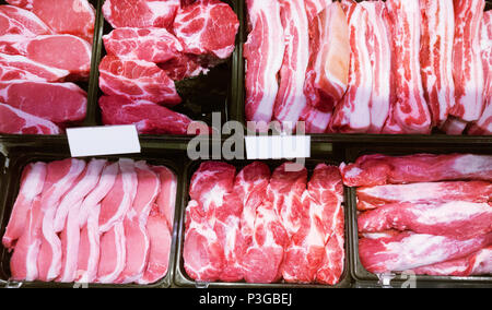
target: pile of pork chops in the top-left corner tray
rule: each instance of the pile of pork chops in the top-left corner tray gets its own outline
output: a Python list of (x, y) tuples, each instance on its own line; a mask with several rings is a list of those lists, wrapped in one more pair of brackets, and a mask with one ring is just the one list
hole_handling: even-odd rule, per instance
[[(0, 132), (59, 134), (85, 119), (95, 10), (86, 0), (0, 5)], [(57, 10), (52, 10), (52, 8)], [(7, 108), (7, 106), (10, 106)]]

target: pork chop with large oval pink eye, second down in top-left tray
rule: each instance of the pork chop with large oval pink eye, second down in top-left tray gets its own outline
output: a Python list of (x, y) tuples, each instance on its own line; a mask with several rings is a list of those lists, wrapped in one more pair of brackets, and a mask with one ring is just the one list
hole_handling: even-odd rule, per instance
[(70, 80), (89, 78), (92, 46), (72, 35), (47, 35), (35, 38), (9, 35), (0, 38), (4, 53), (25, 56), (49, 68), (69, 71)]

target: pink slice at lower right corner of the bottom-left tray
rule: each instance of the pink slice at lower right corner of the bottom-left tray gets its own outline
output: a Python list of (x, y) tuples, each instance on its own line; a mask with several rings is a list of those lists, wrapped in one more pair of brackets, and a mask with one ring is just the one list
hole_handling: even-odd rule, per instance
[(162, 279), (169, 267), (172, 235), (166, 219), (159, 214), (151, 214), (147, 223), (150, 239), (149, 262), (139, 284), (152, 284)]

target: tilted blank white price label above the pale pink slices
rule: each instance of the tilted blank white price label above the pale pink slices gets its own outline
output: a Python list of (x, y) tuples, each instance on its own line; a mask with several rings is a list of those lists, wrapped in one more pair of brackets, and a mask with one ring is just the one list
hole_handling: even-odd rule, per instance
[(72, 157), (140, 153), (136, 126), (105, 126), (67, 129)]

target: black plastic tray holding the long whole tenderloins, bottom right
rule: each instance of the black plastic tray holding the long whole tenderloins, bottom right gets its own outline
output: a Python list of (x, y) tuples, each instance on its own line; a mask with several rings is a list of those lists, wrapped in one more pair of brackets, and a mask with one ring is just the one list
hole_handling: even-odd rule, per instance
[[(412, 155), (419, 153), (426, 154), (481, 154), (492, 155), (492, 144), (475, 146), (475, 145), (412, 145), (412, 146), (395, 146), (395, 145), (374, 145), (374, 146), (353, 146), (347, 148), (347, 164), (354, 163), (362, 155), (367, 154), (385, 154), (393, 156)], [(358, 286), (361, 287), (382, 287), (383, 283), (379, 278), (370, 273), (361, 263), (359, 257), (359, 229), (358, 229), (358, 208), (356, 208), (356, 189), (345, 188), (345, 198), (350, 223), (350, 251), (351, 251), (351, 273), (352, 277), (358, 282)], [(492, 287), (491, 276), (427, 276), (417, 275), (417, 287)], [(409, 281), (405, 276), (396, 276), (391, 282), (391, 287), (402, 287)]]

